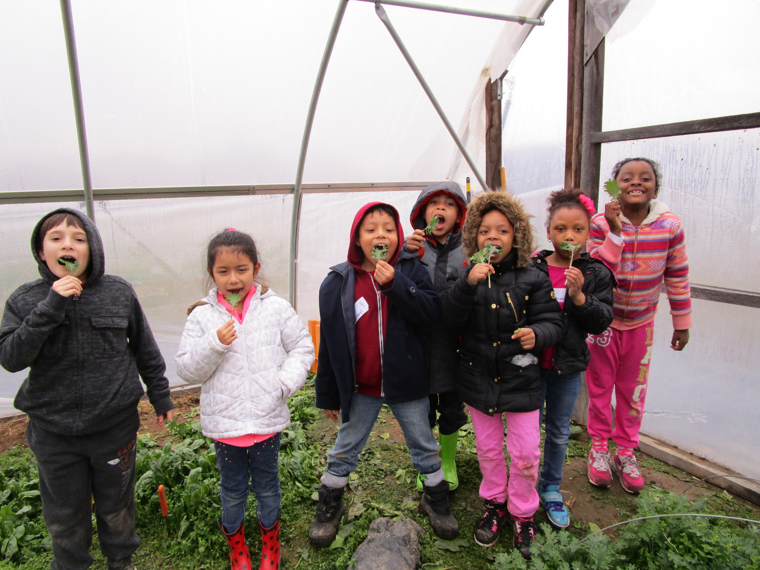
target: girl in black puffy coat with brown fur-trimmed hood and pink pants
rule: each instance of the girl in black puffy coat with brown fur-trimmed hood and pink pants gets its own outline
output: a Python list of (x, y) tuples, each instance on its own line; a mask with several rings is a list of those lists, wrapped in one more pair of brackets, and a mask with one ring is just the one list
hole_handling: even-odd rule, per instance
[(530, 265), (529, 217), (507, 192), (484, 192), (467, 208), (464, 254), (470, 258), (486, 244), (499, 248), (489, 263), (466, 264), (449, 274), (443, 318), (461, 335), (457, 389), (470, 407), (483, 473), (486, 512), (475, 540), (495, 544), (511, 515), (515, 547), (528, 558), (539, 505), (539, 357), (559, 340), (562, 319), (549, 277)]

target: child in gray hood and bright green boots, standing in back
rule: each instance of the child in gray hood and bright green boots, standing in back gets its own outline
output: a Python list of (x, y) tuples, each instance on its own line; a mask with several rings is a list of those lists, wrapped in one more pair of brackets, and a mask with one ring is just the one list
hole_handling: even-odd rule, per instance
[[(465, 262), (461, 230), (466, 212), (461, 186), (448, 181), (429, 185), (412, 207), (410, 222), (414, 232), (404, 250), (417, 254), (439, 296), (446, 293), (448, 274)], [(442, 467), (453, 491), (459, 484), (454, 463), (459, 428), (467, 423), (464, 402), (456, 387), (459, 341), (457, 334), (441, 323), (431, 328), (425, 341), (430, 362), (430, 429), (438, 423)], [(419, 478), (417, 488), (423, 490)]]

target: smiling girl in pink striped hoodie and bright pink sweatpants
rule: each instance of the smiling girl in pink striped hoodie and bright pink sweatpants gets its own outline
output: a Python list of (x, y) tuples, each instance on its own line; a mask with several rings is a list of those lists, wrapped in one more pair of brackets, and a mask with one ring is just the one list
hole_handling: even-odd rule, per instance
[[(649, 361), (654, 339), (654, 313), (665, 282), (673, 316), (673, 350), (683, 350), (692, 327), (689, 263), (681, 220), (660, 201), (660, 172), (647, 158), (617, 163), (613, 178), (621, 190), (592, 219), (588, 251), (615, 269), (613, 324), (603, 334), (588, 337), (591, 362), (586, 370), (588, 432), (593, 441), (588, 457), (588, 480), (597, 486), (612, 483), (610, 468), (628, 492), (644, 489), (633, 448), (644, 414)], [(616, 394), (615, 429), (610, 402)], [(610, 459), (607, 439), (618, 448)]]

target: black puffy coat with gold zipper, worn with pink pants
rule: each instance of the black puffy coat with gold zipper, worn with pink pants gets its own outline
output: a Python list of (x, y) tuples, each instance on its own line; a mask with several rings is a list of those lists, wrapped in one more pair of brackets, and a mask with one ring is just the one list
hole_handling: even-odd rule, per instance
[(559, 341), (562, 318), (549, 277), (539, 269), (518, 268), (512, 249), (496, 274), (476, 285), (467, 282), (471, 266), (448, 276), (448, 293), (442, 299), (443, 320), (461, 336), (457, 391), (467, 405), (493, 415), (530, 412), (541, 405), (539, 364), (518, 366), (511, 360), (525, 354), (511, 337), (517, 328), (532, 328), (537, 357)]

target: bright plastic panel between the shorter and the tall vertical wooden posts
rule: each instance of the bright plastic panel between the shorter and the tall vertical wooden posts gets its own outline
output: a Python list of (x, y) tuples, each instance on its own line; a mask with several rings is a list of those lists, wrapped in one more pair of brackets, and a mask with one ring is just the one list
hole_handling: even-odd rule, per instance
[[(504, 79), (502, 154), (509, 192), (562, 185), (567, 109), (567, 0), (555, 0)], [(543, 225), (543, 209), (530, 211)]]

